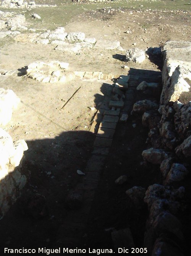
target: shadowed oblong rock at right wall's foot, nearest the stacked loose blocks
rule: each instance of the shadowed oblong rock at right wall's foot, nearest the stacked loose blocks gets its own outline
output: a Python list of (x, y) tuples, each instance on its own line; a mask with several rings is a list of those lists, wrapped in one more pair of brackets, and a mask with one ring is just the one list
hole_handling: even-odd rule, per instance
[(150, 100), (144, 99), (143, 101), (138, 101), (133, 105), (133, 112), (134, 113), (143, 113), (145, 111), (152, 110), (152, 109), (158, 109), (158, 108), (159, 108), (158, 104), (156, 104)]

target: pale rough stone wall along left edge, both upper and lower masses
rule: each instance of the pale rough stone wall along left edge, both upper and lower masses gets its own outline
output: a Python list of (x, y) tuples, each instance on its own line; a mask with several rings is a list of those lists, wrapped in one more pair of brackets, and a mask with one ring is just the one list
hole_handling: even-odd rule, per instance
[(19, 197), (26, 184), (21, 174), (23, 152), (28, 149), (24, 140), (13, 142), (11, 136), (1, 127), (11, 120), (12, 112), (20, 99), (12, 90), (0, 88), (0, 219)]

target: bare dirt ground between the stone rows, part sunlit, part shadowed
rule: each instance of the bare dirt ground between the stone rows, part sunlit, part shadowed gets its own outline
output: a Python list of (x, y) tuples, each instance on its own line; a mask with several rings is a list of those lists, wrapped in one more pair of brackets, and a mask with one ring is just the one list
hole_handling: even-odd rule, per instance
[[(81, 31), (86, 37), (95, 37), (96, 40), (120, 41), (126, 50), (159, 47), (167, 40), (190, 41), (189, 1), (159, 1), (158, 6), (151, 1), (117, 1), (96, 5), (85, 2), (73, 4), (70, 1), (38, 2), (57, 3), (58, 7), (46, 10), (37, 8), (29, 12), (23, 9), (11, 11), (23, 12), (31, 28), (42, 31), (64, 26), (66, 32)], [(110, 8), (114, 9), (112, 14), (108, 13)], [(32, 12), (38, 13), (44, 22), (31, 20)], [(52, 45), (21, 43), (15, 42), (14, 38), (3, 38), (0, 41), (0, 69), (21, 69), (34, 61), (58, 60), (68, 62), (71, 70), (127, 74), (128, 71), (121, 68), (125, 64), (130, 69), (137, 69), (140, 77), (139, 70), (144, 70), (148, 81), (160, 81), (161, 58), (148, 56), (143, 63), (135, 64), (121, 61), (124, 52), (117, 50), (87, 50), (76, 55), (53, 48)], [(157, 78), (149, 71), (156, 71)], [(42, 85), (26, 76), (0, 76), (0, 87), (13, 89), (21, 99), (19, 108), (13, 112), (10, 123), (4, 128), (14, 141), (24, 139), (29, 147), (24, 153), (22, 167), (28, 183), (22, 196), (0, 221), (2, 248), (58, 247), (64, 233), (63, 220), (70, 215), (65, 198), (81, 181), (76, 170), (83, 171), (91, 155), (95, 135), (89, 130), (109, 84), (112, 81), (76, 79), (64, 85)], [(80, 86), (75, 96), (61, 109)], [(140, 97), (135, 95), (134, 101)], [(157, 168), (148, 171), (140, 166), (148, 130), (142, 127), (139, 117), (135, 118), (117, 127), (92, 203), (86, 232), (81, 244), (75, 244), (75, 240), (72, 242), (74, 248), (112, 248), (110, 231), (105, 229), (120, 229), (129, 226), (129, 223), (136, 246), (143, 245), (147, 209), (134, 214), (135, 210), (127, 201), (125, 191), (134, 185), (148, 187), (155, 182), (160, 183), (161, 177)], [(136, 122), (135, 129), (132, 121)], [(125, 173), (128, 173), (128, 185), (115, 187), (114, 180)], [(47, 208), (40, 219), (31, 216), (26, 209), (26, 202), (34, 193), (46, 198)], [(185, 232), (187, 234), (188, 228)]]

